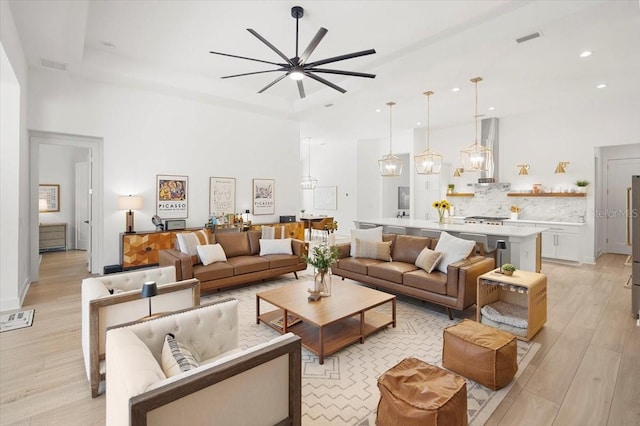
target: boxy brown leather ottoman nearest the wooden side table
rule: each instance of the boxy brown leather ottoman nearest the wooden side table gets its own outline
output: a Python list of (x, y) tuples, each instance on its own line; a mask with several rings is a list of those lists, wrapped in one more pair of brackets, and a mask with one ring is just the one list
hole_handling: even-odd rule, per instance
[(518, 371), (517, 340), (506, 331), (463, 320), (444, 329), (442, 366), (490, 389), (500, 389)]

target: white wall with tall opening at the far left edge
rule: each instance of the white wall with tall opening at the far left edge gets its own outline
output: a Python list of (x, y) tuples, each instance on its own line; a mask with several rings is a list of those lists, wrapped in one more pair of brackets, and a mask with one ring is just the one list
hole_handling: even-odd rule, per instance
[(27, 62), (6, 1), (0, 2), (0, 311), (17, 309), (26, 294), (29, 265), (29, 144)]

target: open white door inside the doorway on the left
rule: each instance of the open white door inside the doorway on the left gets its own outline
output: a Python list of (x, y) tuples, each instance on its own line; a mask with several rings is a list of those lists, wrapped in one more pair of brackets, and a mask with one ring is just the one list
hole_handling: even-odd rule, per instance
[(87, 251), (91, 271), (91, 170), (89, 163), (76, 163), (76, 250)]

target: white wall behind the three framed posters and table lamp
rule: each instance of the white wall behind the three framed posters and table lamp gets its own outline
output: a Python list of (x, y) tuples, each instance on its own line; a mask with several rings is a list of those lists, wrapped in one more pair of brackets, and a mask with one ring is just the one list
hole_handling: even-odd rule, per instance
[(141, 195), (135, 229), (154, 229), (158, 174), (188, 176), (187, 226), (207, 221), (210, 176), (236, 178), (238, 212), (251, 209), (253, 178), (276, 180), (275, 214), (254, 222), (277, 222), (299, 210), (297, 122), (56, 71), (31, 69), (30, 81), (30, 129), (104, 140), (103, 265), (120, 261), (119, 195)]

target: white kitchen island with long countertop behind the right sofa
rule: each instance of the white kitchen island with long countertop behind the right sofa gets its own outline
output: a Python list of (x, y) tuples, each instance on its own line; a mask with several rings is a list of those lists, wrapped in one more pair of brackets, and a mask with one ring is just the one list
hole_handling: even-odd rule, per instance
[(356, 219), (356, 228), (382, 226), (383, 232), (401, 233), (419, 236), (437, 236), (446, 231), (454, 236), (461, 233), (487, 236), (487, 250), (496, 247), (497, 240), (505, 240), (507, 249), (502, 254), (502, 263), (512, 263), (518, 269), (540, 272), (541, 265), (541, 233), (545, 228), (535, 226), (484, 225), (477, 223), (445, 223), (443, 225), (431, 220), (420, 219)]

